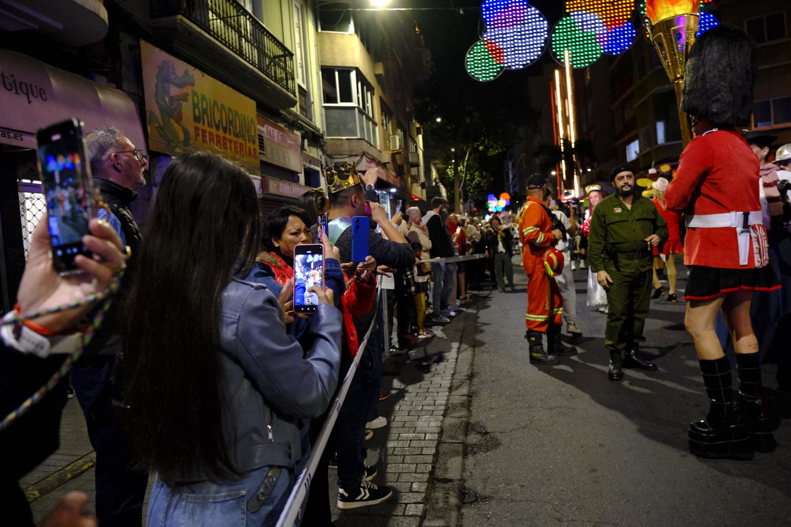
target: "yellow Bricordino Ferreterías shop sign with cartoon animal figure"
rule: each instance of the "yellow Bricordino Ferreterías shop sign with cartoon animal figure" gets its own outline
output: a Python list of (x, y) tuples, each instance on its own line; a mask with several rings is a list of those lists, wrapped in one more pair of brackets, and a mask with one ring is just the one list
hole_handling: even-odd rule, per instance
[(255, 101), (144, 40), (140, 55), (149, 149), (215, 152), (258, 174)]

